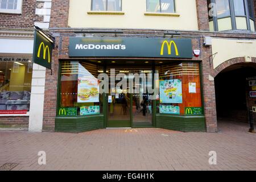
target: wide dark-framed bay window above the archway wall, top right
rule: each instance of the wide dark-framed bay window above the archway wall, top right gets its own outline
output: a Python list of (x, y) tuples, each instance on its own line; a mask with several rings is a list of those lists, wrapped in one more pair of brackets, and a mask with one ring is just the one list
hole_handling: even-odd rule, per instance
[(208, 5), (210, 31), (255, 31), (253, 0), (208, 0)]

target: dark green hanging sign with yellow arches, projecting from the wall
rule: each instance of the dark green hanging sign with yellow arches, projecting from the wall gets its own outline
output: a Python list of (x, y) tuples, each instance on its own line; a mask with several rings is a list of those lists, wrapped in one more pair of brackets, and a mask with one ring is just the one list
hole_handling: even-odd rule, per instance
[(33, 63), (42, 65), (48, 69), (52, 68), (53, 43), (46, 39), (38, 31), (35, 31)]

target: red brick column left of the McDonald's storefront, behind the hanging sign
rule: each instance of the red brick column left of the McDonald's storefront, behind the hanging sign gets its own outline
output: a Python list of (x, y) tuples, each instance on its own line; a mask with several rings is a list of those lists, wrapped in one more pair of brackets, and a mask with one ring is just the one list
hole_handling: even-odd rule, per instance
[[(52, 1), (50, 31), (55, 27), (68, 27), (68, 11), (69, 0)], [(51, 70), (46, 71), (43, 131), (55, 130), (59, 59), (63, 51), (63, 42), (67, 40), (63, 40), (62, 36), (55, 38), (55, 49), (52, 52), (52, 74)]]

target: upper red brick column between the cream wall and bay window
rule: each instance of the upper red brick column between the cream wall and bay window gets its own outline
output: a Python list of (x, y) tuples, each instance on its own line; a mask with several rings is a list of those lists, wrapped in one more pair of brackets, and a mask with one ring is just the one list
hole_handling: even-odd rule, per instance
[(209, 31), (207, 0), (196, 0), (196, 9), (199, 30)]

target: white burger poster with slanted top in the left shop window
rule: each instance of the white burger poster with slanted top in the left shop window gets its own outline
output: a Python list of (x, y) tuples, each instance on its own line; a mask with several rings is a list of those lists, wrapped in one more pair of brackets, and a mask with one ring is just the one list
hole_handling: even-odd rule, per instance
[(77, 102), (99, 102), (100, 84), (87, 69), (79, 64)]

